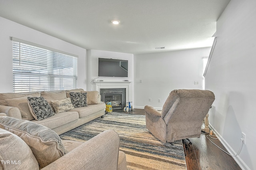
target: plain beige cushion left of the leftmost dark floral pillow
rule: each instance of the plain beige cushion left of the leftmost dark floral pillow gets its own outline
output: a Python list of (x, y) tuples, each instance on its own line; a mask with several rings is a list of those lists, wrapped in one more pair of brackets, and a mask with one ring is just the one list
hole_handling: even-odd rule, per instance
[(30, 113), (28, 107), (28, 97), (33, 97), (32, 95), (14, 98), (14, 99), (5, 99), (6, 103), (12, 107), (18, 107), (20, 109), (22, 119), (31, 121), (34, 119), (32, 114)]

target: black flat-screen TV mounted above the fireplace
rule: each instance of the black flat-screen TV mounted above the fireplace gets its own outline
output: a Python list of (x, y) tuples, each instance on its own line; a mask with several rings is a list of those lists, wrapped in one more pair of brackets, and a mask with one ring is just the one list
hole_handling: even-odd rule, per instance
[(100, 77), (128, 77), (128, 60), (99, 58)]

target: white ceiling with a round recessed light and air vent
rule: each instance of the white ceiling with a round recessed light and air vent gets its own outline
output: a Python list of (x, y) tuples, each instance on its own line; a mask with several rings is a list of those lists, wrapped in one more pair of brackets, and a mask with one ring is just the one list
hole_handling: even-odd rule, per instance
[(140, 54), (212, 46), (228, 2), (0, 0), (0, 16), (85, 49)]

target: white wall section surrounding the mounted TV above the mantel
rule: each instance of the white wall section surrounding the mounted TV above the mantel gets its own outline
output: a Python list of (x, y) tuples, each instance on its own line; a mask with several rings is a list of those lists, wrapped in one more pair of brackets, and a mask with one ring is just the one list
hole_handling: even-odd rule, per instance
[[(113, 58), (128, 60), (128, 77), (98, 77), (98, 58)], [(133, 101), (133, 81), (134, 81), (134, 56), (130, 53), (119, 53), (112, 51), (87, 50), (87, 90), (96, 90), (95, 81), (130, 81), (129, 101)]]

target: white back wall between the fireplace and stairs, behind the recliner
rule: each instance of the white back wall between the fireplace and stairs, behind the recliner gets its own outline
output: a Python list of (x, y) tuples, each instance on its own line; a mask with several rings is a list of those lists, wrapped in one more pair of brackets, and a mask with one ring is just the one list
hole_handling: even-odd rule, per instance
[(134, 107), (162, 109), (172, 90), (202, 89), (203, 57), (209, 53), (210, 47), (134, 55)]

